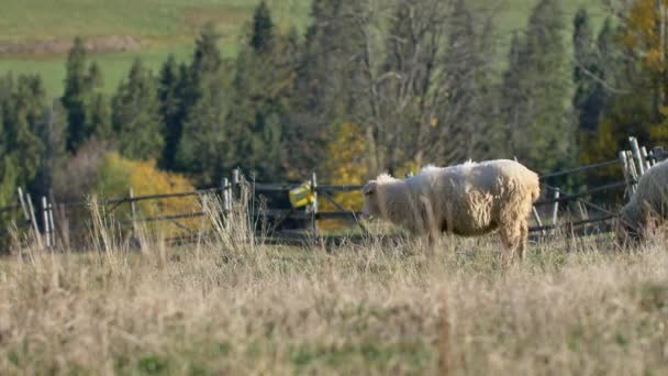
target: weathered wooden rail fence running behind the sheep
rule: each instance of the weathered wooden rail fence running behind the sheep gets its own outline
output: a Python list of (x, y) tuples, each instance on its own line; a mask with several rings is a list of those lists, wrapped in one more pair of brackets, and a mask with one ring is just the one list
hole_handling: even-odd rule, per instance
[[(597, 193), (603, 191), (610, 191), (615, 189), (624, 188), (626, 193), (632, 193), (637, 185), (639, 176), (647, 169), (649, 169), (654, 164), (657, 163), (657, 156), (663, 155), (659, 152), (656, 152), (657, 148), (654, 148), (650, 153), (647, 153), (645, 147), (641, 147), (637, 143), (637, 140), (634, 137), (630, 137), (631, 151), (622, 151), (619, 153), (619, 159), (615, 161), (605, 161), (601, 163), (590, 164), (586, 166), (579, 166), (575, 168), (568, 168), (560, 172), (554, 172), (549, 174), (542, 175), (541, 181), (544, 187), (547, 187), (545, 191), (553, 191), (554, 197), (545, 197), (534, 203), (534, 218), (538, 225), (531, 226), (530, 231), (533, 233), (541, 232), (542, 234), (546, 234), (548, 231), (555, 231), (558, 229), (574, 229), (574, 228), (582, 228), (591, 224), (600, 224), (606, 223), (610, 220), (616, 218), (616, 213), (609, 211), (608, 209), (601, 208), (592, 202), (584, 200), (586, 197), (595, 196)], [(621, 166), (621, 172), (624, 177), (623, 181), (614, 181), (610, 184), (605, 184), (599, 187), (591, 187), (583, 191), (576, 193), (564, 192), (559, 189), (559, 187), (552, 187), (545, 184), (545, 180), (569, 176), (572, 174), (581, 174), (587, 172), (592, 172), (600, 168), (606, 168), (619, 165)], [(219, 187), (208, 188), (208, 189), (199, 189), (192, 191), (182, 191), (182, 192), (172, 192), (172, 193), (155, 193), (155, 195), (144, 195), (144, 196), (134, 196), (132, 189), (130, 189), (127, 197), (116, 197), (109, 199), (96, 200), (94, 203), (99, 206), (112, 206), (112, 209), (118, 208), (122, 204), (131, 206), (131, 218), (127, 220), (116, 221), (119, 224), (130, 224), (133, 226), (133, 231), (136, 231), (137, 223), (148, 223), (148, 222), (160, 222), (160, 221), (171, 221), (176, 224), (179, 224), (179, 220), (192, 219), (192, 218), (201, 218), (205, 215), (205, 209), (201, 211), (192, 211), (187, 213), (176, 213), (169, 215), (155, 215), (155, 217), (142, 217), (138, 213), (134, 203), (141, 201), (149, 201), (149, 200), (166, 200), (166, 199), (176, 199), (176, 198), (186, 198), (186, 197), (202, 197), (207, 195), (220, 195), (222, 199), (222, 207), (224, 212), (230, 212), (232, 210), (232, 202), (234, 200), (241, 199), (241, 188), (242, 185), (246, 185), (252, 188), (253, 195), (252, 198), (257, 198), (258, 196), (269, 195), (269, 193), (285, 193), (287, 195), (291, 189), (301, 187), (300, 184), (247, 184), (243, 181), (243, 176), (241, 172), (234, 170), (232, 173), (231, 179), (224, 179)], [(354, 210), (347, 210), (341, 203), (338, 203), (335, 197), (331, 193), (335, 192), (353, 192), (361, 190), (361, 185), (318, 185), (315, 174), (310, 179), (310, 188), (312, 190), (314, 200), (312, 203), (308, 206), (307, 210), (296, 210), (296, 209), (274, 209), (274, 208), (258, 208), (254, 210), (250, 214), (255, 218), (266, 218), (275, 221), (276, 223), (270, 226), (271, 231), (278, 231), (277, 229), (287, 219), (294, 219), (305, 222), (311, 222), (312, 230), (318, 231), (318, 221), (319, 220), (341, 220), (348, 221), (350, 223), (356, 223), (363, 230), (363, 233), (368, 233), (366, 228), (359, 222), (360, 212), (356, 212)], [(320, 211), (318, 207), (318, 197), (325, 199), (330, 203), (334, 204), (337, 211)], [(560, 204), (577, 202), (578, 204), (583, 204), (588, 208), (594, 209), (599, 212), (599, 215), (589, 218), (586, 211), (580, 207), (581, 219), (575, 219), (567, 222), (560, 223), (558, 221), (558, 214), (560, 211), (564, 211), (564, 208)], [(36, 234), (42, 233), (44, 237), (44, 244), (47, 246), (53, 246), (56, 243), (57, 234), (63, 232), (63, 229), (58, 228), (58, 221), (54, 221), (54, 218), (58, 219), (60, 215), (54, 215), (54, 211), (56, 210), (65, 210), (69, 208), (77, 207), (87, 207), (90, 204), (90, 201), (73, 201), (73, 202), (59, 202), (56, 204), (53, 200), (53, 196), (51, 199), (43, 197), (40, 200), (41, 206), (33, 204), (33, 200), (30, 198), (30, 195), (24, 195), (21, 189), (19, 189), (19, 200), (15, 203), (9, 204), (7, 207), (0, 208), (1, 213), (11, 213), (19, 212), (20, 219), (13, 219), (12, 223), (15, 228), (30, 228), (30, 231), (35, 232)], [(538, 211), (535, 209), (537, 207), (547, 207), (547, 211), (550, 213), (550, 219), (547, 220), (547, 224), (544, 224), (544, 219), (541, 219)], [(253, 206), (255, 208), (255, 206)], [(38, 212), (41, 210), (41, 212)], [(109, 211), (111, 211), (109, 210)], [(62, 214), (62, 213), (60, 213)], [(38, 225), (37, 221), (41, 221)], [(179, 224), (179, 226), (183, 228)], [(8, 234), (10, 232), (10, 228), (12, 225), (5, 225), (0, 230), (0, 234)], [(81, 224), (75, 224), (73, 226), (68, 226), (69, 229), (78, 229), (84, 228)], [(599, 226), (603, 229), (603, 226)], [(187, 237), (187, 236), (186, 236)], [(37, 242), (42, 242), (41, 236), (37, 236)], [(42, 246), (42, 245), (40, 245)]]

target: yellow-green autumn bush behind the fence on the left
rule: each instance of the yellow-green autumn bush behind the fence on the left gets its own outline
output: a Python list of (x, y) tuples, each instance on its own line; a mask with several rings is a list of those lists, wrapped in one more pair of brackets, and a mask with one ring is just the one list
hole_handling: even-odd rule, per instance
[[(158, 169), (155, 161), (130, 161), (115, 152), (108, 153), (98, 175), (96, 193), (108, 198), (127, 197), (131, 187), (135, 197), (194, 190), (186, 177)], [(201, 210), (197, 197), (143, 200), (137, 201), (135, 207), (140, 218), (177, 215)], [(130, 219), (130, 203), (121, 204), (114, 210), (114, 215), (121, 220)], [(174, 236), (187, 234), (187, 229), (197, 231), (200, 223), (201, 219), (193, 218), (176, 222), (152, 222), (149, 228)]]

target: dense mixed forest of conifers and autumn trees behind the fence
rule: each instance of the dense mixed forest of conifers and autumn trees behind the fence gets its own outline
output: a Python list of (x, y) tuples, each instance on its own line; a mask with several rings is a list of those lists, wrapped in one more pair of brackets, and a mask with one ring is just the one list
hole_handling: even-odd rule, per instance
[(313, 0), (303, 32), (260, 1), (235, 56), (209, 23), (189, 60), (153, 71), (137, 58), (112, 95), (77, 37), (58, 98), (38, 75), (0, 78), (0, 206), (18, 187), (123, 192), (137, 169), (165, 176), (162, 191), (215, 186), (236, 167), (258, 181), (360, 184), (469, 158), (549, 173), (615, 158), (628, 135), (665, 145), (665, 7), (608, 0), (594, 22), (539, 0), (503, 48), (493, 9), (466, 0)]

